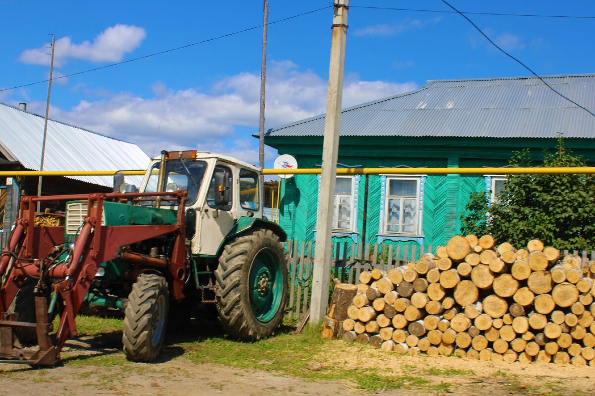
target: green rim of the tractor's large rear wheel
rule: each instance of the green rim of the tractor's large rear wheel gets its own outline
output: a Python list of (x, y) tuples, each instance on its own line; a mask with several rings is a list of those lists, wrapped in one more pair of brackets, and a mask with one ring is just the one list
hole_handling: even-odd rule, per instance
[(248, 294), (252, 312), (259, 322), (268, 322), (277, 313), (283, 292), (283, 275), (277, 255), (261, 249), (250, 267)]

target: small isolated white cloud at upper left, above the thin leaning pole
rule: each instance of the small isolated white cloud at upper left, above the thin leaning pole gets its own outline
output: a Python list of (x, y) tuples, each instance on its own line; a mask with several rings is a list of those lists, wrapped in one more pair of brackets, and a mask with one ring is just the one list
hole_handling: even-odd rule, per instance
[[(142, 27), (117, 24), (99, 33), (93, 40), (73, 43), (68, 36), (56, 40), (54, 65), (60, 67), (68, 59), (83, 59), (92, 62), (118, 62), (145, 39), (146, 32)], [(18, 60), (23, 63), (48, 65), (49, 48), (26, 49)]]

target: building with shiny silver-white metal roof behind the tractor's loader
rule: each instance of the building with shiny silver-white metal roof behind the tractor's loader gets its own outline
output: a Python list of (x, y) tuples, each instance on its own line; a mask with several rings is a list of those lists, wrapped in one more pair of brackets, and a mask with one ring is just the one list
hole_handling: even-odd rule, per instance
[[(0, 170), (40, 170), (45, 118), (0, 104)], [(43, 170), (138, 170), (149, 157), (135, 144), (99, 135), (60, 121), (48, 120)], [(140, 185), (142, 176), (127, 176)], [(0, 227), (10, 230), (18, 198), (37, 195), (35, 177), (0, 177)], [(112, 176), (45, 176), (42, 195), (112, 191)], [(4, 220), (2, 221), (2, 216)]]

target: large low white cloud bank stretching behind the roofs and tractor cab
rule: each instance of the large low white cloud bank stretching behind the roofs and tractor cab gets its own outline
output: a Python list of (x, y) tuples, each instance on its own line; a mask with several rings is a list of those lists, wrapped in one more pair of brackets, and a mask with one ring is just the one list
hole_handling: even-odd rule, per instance
[[(241, 73), (220, 80), (208, 92), (198, 89), (174, 91), (163, 83), (152, 86), (154, 96), (142, 98), (121, 92), (87, 93), (69, 110), (52, 107), (50, 117), (93, 132), (134, 142), (148, 155), (162, 149), (215, 151), (258, 163), (260, 108), (259, 74)], [(415, 83), (362, 81), (356, 74), (346, 76), (343, 107), (362, 104), (386, 96), (417, 89)], [(266, 127), (275, 127), (325, 111), (327, 80), (310, 70), (299, 70), (290, 62), (271, 63), (267, 73)], [(43, 113), (43, 103), (29, 109)], [(267, 149), (267, 160), (276, 154)]]

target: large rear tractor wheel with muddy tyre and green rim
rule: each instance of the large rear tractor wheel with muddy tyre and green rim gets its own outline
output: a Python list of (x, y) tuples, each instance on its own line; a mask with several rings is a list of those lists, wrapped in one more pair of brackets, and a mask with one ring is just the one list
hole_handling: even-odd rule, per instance
[(287, 303), (287, 265), (277, 235), (256, 229), (233, 239), (215, 277), (219, 319), (229, 335), (255, 341), (273, 334)]

